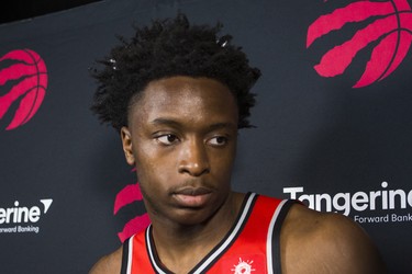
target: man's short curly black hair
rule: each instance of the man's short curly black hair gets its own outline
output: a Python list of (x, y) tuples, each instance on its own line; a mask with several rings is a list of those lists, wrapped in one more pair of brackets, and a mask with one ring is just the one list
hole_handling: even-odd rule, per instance
[(99, 88), (91, 110), (120, 130), (127, 126), (129, 110), (149, 82), (172, 76), (205, 77), (229, 88), (238, 106), (238, 128), (249, 127), (249, 109), (255, 104), (250, 89), (260, 72), (249, 67), (230, 35), (219, 36), (221, 28), (221, 24), (191, 25), (178, 14), (136, 27), (130, 41), (120, 37), (122, 44), (100, 61), (104, 67), (92, 71)]

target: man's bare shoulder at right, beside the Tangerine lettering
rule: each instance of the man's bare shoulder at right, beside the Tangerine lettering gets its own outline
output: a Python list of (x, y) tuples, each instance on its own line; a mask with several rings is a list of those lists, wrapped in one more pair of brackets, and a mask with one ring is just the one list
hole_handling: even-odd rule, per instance
[(355, 221), (293, 205), (280, 233), (282, 273), (386, 273), (381, 256)]

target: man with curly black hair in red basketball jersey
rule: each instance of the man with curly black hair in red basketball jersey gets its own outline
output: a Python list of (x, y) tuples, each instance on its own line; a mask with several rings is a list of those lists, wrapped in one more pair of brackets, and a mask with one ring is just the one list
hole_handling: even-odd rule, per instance
[(119, 130), (152, 225), (90, 273), (383, 273), (348, 218), (232, 191), (260, 72), (220, 30), (155, 21), (94, 71), (92, 110)]

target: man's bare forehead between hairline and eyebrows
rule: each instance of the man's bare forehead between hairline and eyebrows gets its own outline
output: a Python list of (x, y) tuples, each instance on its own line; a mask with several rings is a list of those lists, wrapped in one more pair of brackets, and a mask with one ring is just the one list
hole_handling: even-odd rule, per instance
[(167, 117), (199, 123), (207, 118), (237, 126), (238, 118), (232, 92), (210, 78), (171, 77), (152, 81), (130, 111), (132, 119), (138, 117), (142, 122)]

